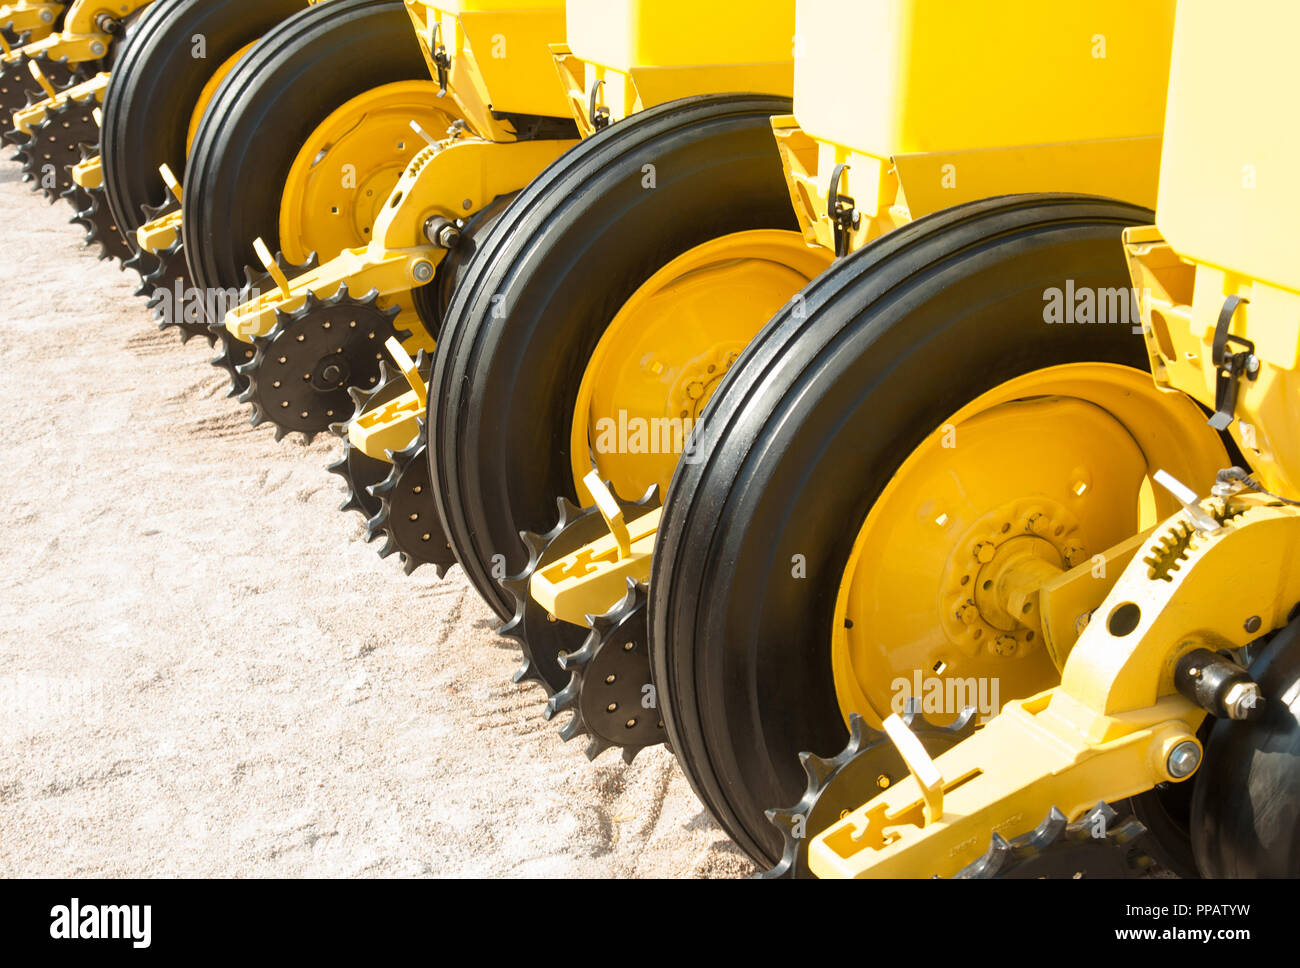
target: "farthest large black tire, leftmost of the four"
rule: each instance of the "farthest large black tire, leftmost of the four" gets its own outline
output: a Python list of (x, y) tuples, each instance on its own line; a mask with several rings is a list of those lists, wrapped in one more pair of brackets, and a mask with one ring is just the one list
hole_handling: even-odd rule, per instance
[[(185, 172), (194, 107), (212, 74), (307, 0), (155, 0), (104, 94), (100, 155), (114, 222), (134, 243), (143, 208), (168, 201), (160, 165)], [(207, 56), (194, 57), (202, 35)], [(134, 249), (135, 246), (133, 244)]]

